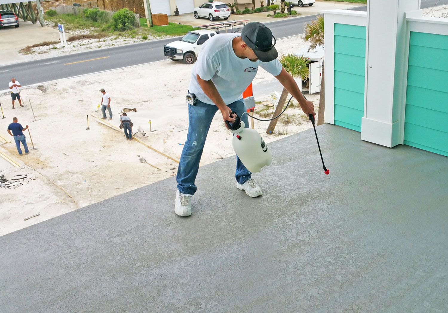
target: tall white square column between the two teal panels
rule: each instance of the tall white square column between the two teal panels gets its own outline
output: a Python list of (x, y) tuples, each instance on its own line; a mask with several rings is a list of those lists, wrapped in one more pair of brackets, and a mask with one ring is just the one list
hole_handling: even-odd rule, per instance
[(405, 12), (420, 0), (370, 0), (367, 3), (366, 87), (361, 139), (393, 147), (400, 143), (406, 42)]

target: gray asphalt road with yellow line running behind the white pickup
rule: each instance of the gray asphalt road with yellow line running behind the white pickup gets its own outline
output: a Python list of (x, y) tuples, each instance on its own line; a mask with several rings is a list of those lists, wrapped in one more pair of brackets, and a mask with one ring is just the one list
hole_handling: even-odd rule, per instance
[[(422, 0), (421, 8), (429, 8), (435, 4), (438, 6), (448, 4), (448, 0)], [(366, 11), (366, 8), (364, 6), (353, 9)], [(269, 23), (269, 28), (271, 28), (276, 38), (298, 35), (303, 33), (305, 23), (313, 20), (315, 17), (315, 15), (312, 15), (275, 21)], [(174, 40), (177, 40), (177, 38), (5, 65), (0, 67), (0, 81), (9, 81), (14, 76), (23, 86), (26, 86), (49, 80), (159, 61), (165, 59), (163, 55), (164, 45)]]

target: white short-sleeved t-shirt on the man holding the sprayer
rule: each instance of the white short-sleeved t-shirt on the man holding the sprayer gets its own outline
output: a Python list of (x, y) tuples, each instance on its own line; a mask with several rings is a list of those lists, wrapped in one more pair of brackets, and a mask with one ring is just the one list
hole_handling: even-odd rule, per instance
[(189, 87), (190, 93), (196, 94), (200, 101), (214, 104), (202, 91), (196, 74), (203, 80), (211, 79), (226, 105), (243, 97), (243, 92), (257, 74), (258, 65), (273, 76), (280, 74), (282, 65), (278, 59), (265, 63), (238, 58), (233, 51), (232, 40), (240, 35), (217, 34), (204, 43), (193, 66)]

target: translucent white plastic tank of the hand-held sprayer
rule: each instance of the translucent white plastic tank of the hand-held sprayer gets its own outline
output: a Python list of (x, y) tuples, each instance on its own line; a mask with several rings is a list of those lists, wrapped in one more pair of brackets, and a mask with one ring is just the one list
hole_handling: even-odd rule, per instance
[(233, 150), (240, 158), (246, 169), (252, 173), (261, 171), (265, 165), (272, 162), (272, 152), (267, 148), (263, 138), (252, 128), (244, 128), (245, 124), (241, 121), (241, 127), (237, 130), (230, 130), (233, 135)]

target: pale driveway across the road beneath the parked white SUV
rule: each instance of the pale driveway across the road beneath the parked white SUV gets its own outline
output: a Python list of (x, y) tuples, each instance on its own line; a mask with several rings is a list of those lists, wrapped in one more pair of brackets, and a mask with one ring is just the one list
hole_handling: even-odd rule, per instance
[[(204, 1), (205, 2), (205, 1)], [(258, 2), (258, 1), (257, 1)], [(258, 2), (259, 3), (259, 2)], [(274, 2), (274, 4), (279, 4), (279, 2)], [(248, 4), (248, 7), (250, 8), (252, 4)], [(309, 15), (315, 15), (320, 14), (323, 10), (336, 10), (336, 9), (349, 9), (353, 7), (363, 6), (365, 4), (356, 4), (356, 3), (347, 3), (347, 2), (334, 2), (334, 1), (316, 1), (316, 3), (313, 6), (304, 6), (303, 8), (294, 7), (293, 9), (297, 11), (297, 13), (301, 13), (301, 17), (303, 16), (309, 16)], [(267, 14), (272, 14), (272, 12), (263, 12), (263, 13), (254, 13), (254, 14), (246, 14), (246, 15), (231, 15), (228, 19), (228, 21), (238, 21), (238, 20), (249, 20), (249, 21), (256, 21), (256, 22), (273, 22), (273, 21), (281, 21), (286, 20), (294, 17), (279, 17), (279, 18), (273, 18), (273, 17), (267, 17)], [(224, 22), (223, 19), (215, 20), (214, 22), (209, 21), (207, 18), (194, 18), (193, 13), (185, 13), (185, 14), (179, 14), (179, 16), (169, 16), (168, 21), (172, 23), (181, 23), (186, 25), (193, 25), (193, 26), (199, 26), (199, 25), (206, 25), (210, 23), (219, 23)]]

